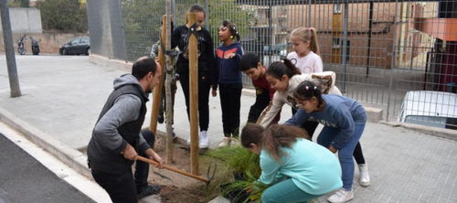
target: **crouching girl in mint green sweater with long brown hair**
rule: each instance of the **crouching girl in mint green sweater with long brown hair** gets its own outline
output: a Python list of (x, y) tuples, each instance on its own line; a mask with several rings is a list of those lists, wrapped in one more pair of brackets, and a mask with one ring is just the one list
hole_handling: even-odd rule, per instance
[(340, 187), (341, 167), (328, 149), (308, 140), (305, 130), (290, 125), (264, 127), (248, 123), (241, 144), (260, 155), (259, 182), (270, 185), (262, 202), (308, 202)]

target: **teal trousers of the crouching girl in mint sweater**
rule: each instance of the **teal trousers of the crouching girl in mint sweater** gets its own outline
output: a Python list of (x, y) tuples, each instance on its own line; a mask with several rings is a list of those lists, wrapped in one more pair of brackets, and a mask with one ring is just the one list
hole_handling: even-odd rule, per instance
[(297, 202), (305, 203), (320, 195), (309, 194), (295, 185), (292, 179), (285, 179), (277, 184), (270, 186), (262, 194), (263, 203)]

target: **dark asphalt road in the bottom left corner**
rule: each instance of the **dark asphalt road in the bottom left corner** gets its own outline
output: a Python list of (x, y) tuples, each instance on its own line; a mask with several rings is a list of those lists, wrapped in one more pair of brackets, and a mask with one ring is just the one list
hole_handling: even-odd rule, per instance
[(0, 202), (94, 202), (0, 133)]

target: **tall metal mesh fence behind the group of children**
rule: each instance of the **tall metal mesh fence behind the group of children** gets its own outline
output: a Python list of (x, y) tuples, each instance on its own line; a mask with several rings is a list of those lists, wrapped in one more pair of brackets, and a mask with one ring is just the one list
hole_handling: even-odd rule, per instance
[[(90, 8), (90, 2), (89, 13), (100, 11)], [(337, 86), (346, 96), (384, 109), (387, 120), (399, 116), (408, 122), (433, 120), (437, 126), (457, 127), (457, 2), (453, 0), (176, 0), (175, 25), (184, 24), (187, 9), (195, 3), (207, 11), (205, 27), (215, 46), (218, 26), (229, 19), (237, 25), (245, 51), (257, 53), (268, 66), (293, 51), (291, 30), (315, 27), (324, 71), (337, 73)], [(121, 59), (149, 55), (158, 40), (165, 1), (119, 0), (118, 5), (125, 37), (116, 40), (126, 47)], [(106, 26), (96, 23), (89, 18), (89, 29), (90, 24)], [(102, 53), (104, 48), (92, 52)], [(247, 77), (243, 81), (251, 84)], [(405, 97), (408, 91), (414, 92)]]

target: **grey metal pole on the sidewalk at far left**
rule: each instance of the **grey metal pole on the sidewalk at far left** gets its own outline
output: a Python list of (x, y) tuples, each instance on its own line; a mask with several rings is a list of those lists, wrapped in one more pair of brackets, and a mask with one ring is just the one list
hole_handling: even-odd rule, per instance
[(11, 33), (10, 12), (7, 0), (0, 0), (0, 13), (2, 15), (3, 41), (10, 80), (11, 97), (21, 96), (19, 78), (17, 76), (16, 58), (14, 57), (13, 34)]

